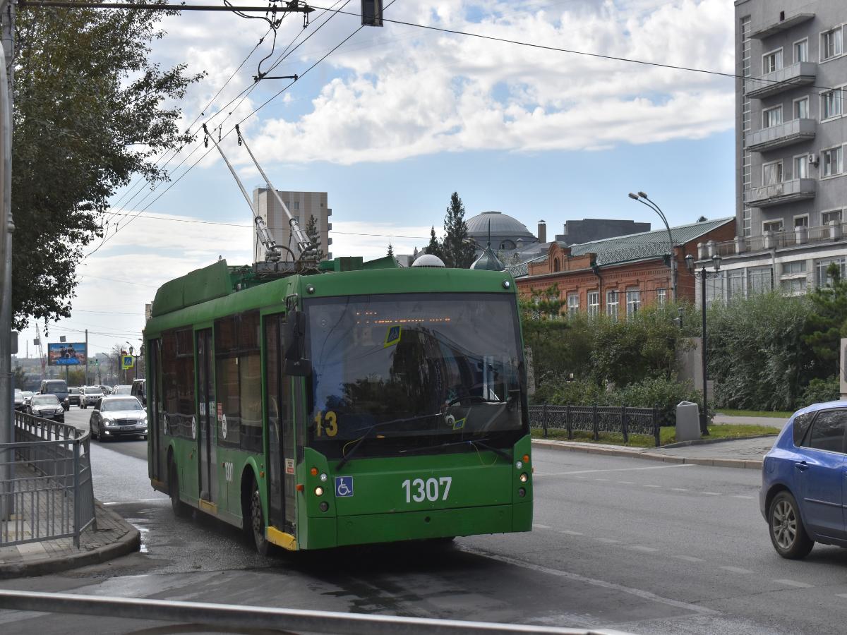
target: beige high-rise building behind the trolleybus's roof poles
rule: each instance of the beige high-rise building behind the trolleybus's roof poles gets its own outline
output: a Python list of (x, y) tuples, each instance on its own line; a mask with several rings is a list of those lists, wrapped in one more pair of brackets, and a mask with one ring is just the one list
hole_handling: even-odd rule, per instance
[[(332, 210), (327, 205), (326, 192), (284, 192), (279, 190), (277, 192), (291, 215), (297, 219), (297, 223), (300, 224), (303, 231), (306, 230), (309, 218), (312, 216), (315, 218), (318, 223), (320, 248), (321, 251), (324, 251), (323, 259), (329, 260), (332, 258), (332, 253), (329, 251), (329, 246), (332, 245), (332, 239), (329, 237), (329, 231), (332, 229), (329, 217), (332, 216)], [(253, 190), (253, 207), (256, 207), (259, 216), (268, 224), (268, 229), (271, 236), (276, 240), (276, 244), (289, 246), (291, 228), (285, 212), (283, 212), (273, 192), (266, 187), (257, 187)], [(255, 233), (253, 235), (253, 258), (256, 262), (264, 260), (264, 248), (259, 244)]]

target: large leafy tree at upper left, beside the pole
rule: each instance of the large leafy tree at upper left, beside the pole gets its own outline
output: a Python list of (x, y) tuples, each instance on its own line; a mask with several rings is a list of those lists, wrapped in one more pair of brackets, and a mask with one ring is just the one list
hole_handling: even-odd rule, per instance
[[(132, 1), (132, 0), (130, 0)], [(162, 2), (162, 0), (155, 0)], [(15, 25), (14, 323), (69, 317), (76, 267), (109, 198), (191, 139), (172, 104), (202, 75), (149, 60), (163, 12), (21, 8)], [(176, 12), (166, 12), (176, 14)]]

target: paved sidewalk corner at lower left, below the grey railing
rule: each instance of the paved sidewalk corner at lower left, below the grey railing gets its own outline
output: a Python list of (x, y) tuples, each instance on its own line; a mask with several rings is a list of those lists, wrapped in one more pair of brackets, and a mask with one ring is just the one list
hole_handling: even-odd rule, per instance
[(141, 532), (100, 501), (95, 500), (94, 506), (97, 529), (89, 527), (80, 534), (80, 549), (74, 547), (73, 538), (0, 547), (0, 579), (93, 565), (140, 548)]

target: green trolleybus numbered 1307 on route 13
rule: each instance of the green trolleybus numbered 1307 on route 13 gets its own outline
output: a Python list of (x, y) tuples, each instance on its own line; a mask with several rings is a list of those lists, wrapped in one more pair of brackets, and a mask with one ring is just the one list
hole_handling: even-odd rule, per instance
[(529, 531), (508, 273), (336, 258), (164, 284), (144, 333), (149, 472), (261, 553)]

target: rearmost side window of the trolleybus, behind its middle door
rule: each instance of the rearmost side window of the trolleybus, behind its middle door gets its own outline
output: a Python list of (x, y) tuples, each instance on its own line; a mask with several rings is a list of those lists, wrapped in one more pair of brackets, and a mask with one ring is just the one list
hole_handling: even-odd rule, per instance
[(162, 391), (165, 428), (191, 439), (194, 412), (194, 346), (191, 329), (162, 334)]

